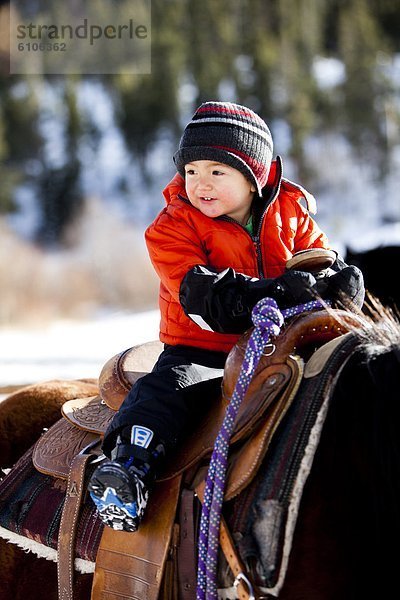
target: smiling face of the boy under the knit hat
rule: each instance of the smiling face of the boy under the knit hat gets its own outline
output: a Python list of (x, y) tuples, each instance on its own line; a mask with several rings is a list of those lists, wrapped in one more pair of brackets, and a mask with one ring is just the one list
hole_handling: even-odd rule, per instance
[(211, 160), (185, 165), (185, 187), (190, 203), (203, 215), (225, 215), (246, 225), (255, 187), (237, 169)]

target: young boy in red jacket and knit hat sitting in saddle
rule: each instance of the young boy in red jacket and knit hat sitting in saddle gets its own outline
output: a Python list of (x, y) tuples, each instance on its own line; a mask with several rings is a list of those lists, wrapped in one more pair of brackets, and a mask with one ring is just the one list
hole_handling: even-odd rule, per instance
[(114, 529), (138, 528), (164, 455), (218, 394), (227, 354), (251, 327), (258, 300), (286, 308), (342, 290), (363, 302), (360, 271), (339, 258), (326, 279), (285, 271), (295, 252), (328, 241), (299, 203), (312, 196), (283, 179), (272, 150), (266, 123), (228, 102), (202, 104), (183, 133), (166, 207), (145, 234), (160, 278), (164, 351), (109, 426), (103, 449), (111, 460), (89, 483)]

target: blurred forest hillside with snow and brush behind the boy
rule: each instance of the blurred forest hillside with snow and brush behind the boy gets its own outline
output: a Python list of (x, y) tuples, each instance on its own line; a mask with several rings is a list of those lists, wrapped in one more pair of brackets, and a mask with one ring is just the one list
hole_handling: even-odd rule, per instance
[(151, 10), (149, 75), (10, 75), (0, 3), (0, 326), (156, 307), (143, 231), (206, 100), (269, 123), (285, 176), (316, 196), (333, 243), (400, 222), (398, 2), (152, 0)]

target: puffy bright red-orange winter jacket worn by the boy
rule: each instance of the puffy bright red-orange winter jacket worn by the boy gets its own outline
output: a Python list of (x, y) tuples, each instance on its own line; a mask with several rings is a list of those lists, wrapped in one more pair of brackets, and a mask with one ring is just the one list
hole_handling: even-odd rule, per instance
[[(329, 248), (328, 240), (300, 204), (309, 208), (313, 197), (300, 186), (282, 178), (281, 161), (272, 163), (264, 191), (265, 202), (257, 234), (233, 219), (212, 219), (194, 208), (177, 174), (164, 190), (167, 206), (145, 233), (153, 266), (160, 277), (160, 340), (209, 350), (229, 352), (239, 335), (201, 329), (183, 311), (179, 289), (183, 277), (195, 265), (258, 278), (282, 275), (291, 256), (307, 248)], [(258, 201), (258, 200), (257, 200)], [(315, 201), (314, 201), (315, 202)]]

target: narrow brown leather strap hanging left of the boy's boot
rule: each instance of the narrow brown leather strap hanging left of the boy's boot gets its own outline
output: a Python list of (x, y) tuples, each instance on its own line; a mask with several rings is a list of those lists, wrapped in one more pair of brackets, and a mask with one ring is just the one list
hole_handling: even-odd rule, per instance
[(57, 547), (59, 600), (73, 600), (75, 538), (84, 494), (85, 471), (93, 454), (77, 454), (72, 462), (60, 521)]

